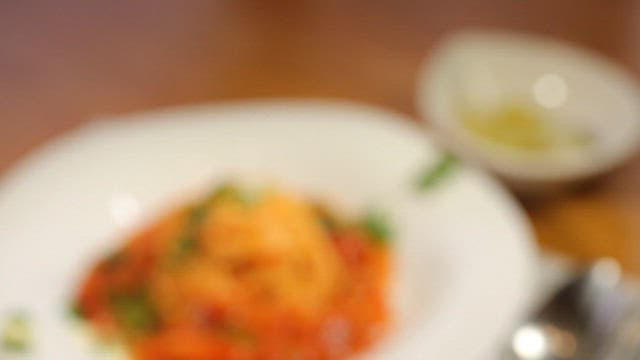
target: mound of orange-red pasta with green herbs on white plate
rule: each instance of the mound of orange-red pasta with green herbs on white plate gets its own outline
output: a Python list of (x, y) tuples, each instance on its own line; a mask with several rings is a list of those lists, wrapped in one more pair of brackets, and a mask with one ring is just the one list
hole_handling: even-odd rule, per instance
[(77, 309), (138, 360), (344, 359), (388, 328), (389, 248), (289, 194), (230, 186), (101, 259)]

